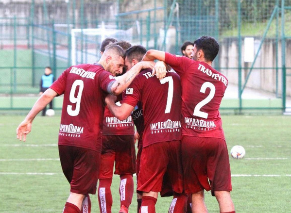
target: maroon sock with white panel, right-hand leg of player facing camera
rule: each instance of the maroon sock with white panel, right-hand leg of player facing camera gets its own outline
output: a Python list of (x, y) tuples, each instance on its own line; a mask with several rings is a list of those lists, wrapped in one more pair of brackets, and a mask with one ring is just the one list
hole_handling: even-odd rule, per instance
[(120, 175), (120, 206), (130, 206), (134, 195), (134, 179), (132, 175)]

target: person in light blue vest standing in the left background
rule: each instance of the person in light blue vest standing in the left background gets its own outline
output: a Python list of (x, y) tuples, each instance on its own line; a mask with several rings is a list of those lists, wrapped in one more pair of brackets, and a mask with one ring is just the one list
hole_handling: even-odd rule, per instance
[[(45, 68), (45, 73), (41, 76), (41, 80), (40, 80), (40, 90), (39, 90), (39, 95), (41, 96), (44, 91), (46, 91), (47, 89), (49, 89), (49, 87), (51, 86), (51, 84), (54, 82), (54, 76), (51, 73), (51, 67), (47, 66)], [(49, 103), (50, 105), (50, 109), (52, 109), (52, 101)], [(42, 116), (46, 115), (46, 111), (47, 111), (47, 107), (43, 108), (42, 110)]]

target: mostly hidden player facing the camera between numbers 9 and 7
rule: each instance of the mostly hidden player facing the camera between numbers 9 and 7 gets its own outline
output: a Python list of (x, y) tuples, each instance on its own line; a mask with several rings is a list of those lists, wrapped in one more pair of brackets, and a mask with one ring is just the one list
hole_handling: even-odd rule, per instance
[[(102, 44), (106, 43), (102, 42)], [(123, 50), (131, 47), (129, 42), (122, 40), (115, 42), (114, 44), (120, 46)], [(101, 46), (101, 49), (102, 48), (103, 45)], [(146, 49), (144, 49), (139, 61), (141, 61), (145, 53)], [(126, 71), (126, 60), (125, 54), (125, 66), (123, 67), (123, 72), (124, 70)], [(131, 115), (125, 120), (120, 121), (117, 117), (112, 115), (108, 107), (105, 106), (102, 130), (101, 166), (98, 184), (98, 203), (100, 213), (111, 213), (113, 203), (111, 183), (114, 165), (114, 174), (120, 176), (119, 212), (128, 213), (128, 208), (132, 202), (132, 197), (134, 194), (133, 174), (136, 173), (134, 133), (135, 128)]]

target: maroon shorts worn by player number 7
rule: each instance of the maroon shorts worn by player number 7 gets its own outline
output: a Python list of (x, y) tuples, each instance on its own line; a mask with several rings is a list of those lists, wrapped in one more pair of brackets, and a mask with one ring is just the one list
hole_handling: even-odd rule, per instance
[(172, 191), (182, 193), (181, 141), (159, 142), (142, 148), (137, 190), (161, 192), (166, 172)]

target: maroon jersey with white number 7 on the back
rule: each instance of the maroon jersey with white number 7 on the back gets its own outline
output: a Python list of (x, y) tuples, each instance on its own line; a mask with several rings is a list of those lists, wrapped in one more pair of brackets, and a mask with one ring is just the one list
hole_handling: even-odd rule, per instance
[(170, 70), (159, 81), (151, 69), (143, 70), (126, 89), (123, 103), (136, 106), (140, 100), (144, 117), (143, 147), (181, 137), (180, 77)]

